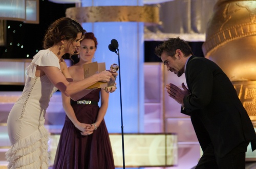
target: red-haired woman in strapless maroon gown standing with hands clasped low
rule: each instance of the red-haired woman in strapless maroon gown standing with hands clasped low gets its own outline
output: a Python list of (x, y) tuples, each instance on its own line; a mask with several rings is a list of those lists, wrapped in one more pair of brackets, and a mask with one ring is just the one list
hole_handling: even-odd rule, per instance
[[(97, 47), (93, 33), (86, 33), (81, 41), (79, 62), (69, 67), (74, 81), (83, 79), (83, 65), (91, 63)], [(100, 99), (101, 98), (101, 99)], [(99, 99), (101, 106), (98, 106)], [(109, 93), (104, 89), (92, 90), (73, 101), (62, 95), (66, 112), (53, 168), (114, 169), (114, 159), (108, 130), (104, 122)], [(86, 128), (85, 132), (84, 128)]]

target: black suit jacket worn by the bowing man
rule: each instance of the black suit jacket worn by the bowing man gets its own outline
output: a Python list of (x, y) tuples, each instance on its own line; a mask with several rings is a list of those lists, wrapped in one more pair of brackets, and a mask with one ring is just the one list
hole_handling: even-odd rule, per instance
[(181, 112), (189, 115), (204, 151), (212, 143), (223, 157), (241, 142), (256, 148), (256, 134), (237, 92), (226, 74), (214, 62), (191, 56), (186, 66), (190, 95), (184, 97)]

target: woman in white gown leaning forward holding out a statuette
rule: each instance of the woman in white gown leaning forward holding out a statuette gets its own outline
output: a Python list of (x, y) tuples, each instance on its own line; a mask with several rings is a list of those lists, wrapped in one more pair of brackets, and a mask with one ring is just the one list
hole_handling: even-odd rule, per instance
[[(26, 68), (27, 79), (22, 96), (10, 111), (7, 126), (11, 148), (6, 153), (8, 168), (48, 168), (48, 131), (44, 127), (46, 109), (54, 92), (78, 100), (91, 92), (86, 90), (98, 81), (114, 78), (102, 71), (80, 81), (73, 81), (65, 61), (65, 53), (74, 54), (86, 31), (71, 18), (53, 22), (44, 38), (45, 50), (40, 50)], [(108, 92), (114, 92), (115, 89)], [(87, 134), (84, 124), (83, 134)]]

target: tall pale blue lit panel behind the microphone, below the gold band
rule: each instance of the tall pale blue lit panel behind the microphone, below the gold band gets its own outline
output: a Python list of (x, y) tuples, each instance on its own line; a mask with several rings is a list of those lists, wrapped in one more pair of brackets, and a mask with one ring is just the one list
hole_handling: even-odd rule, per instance
[[(104, 117), (109, 132), (121, 132), (120, 97), (122, 96), (122, 115), (125, 132), (141, 132), (144, 115), (144, 58), (143, 23), (136, 22), (96, 22), (84, 23), (85, 30), (92, 30), (99, 42), (93, 62), (105, 62), (106, 69), (118, 63), (118, 55), (108, 49), (112, 39), (116, 39), (120, 51), (120, 74), (116, 79), (117, 90), (109, 96), (109, 106)], [(138, 33), (139, 32), (139, 33)], [(104, 36), (102, 36), (104, 35)], [(120, 94), (120, 82), (121, 90)], [(113, 121), (115, 123), (113, 123)], [(128, 125), (134, 124), (134, 125)]]

